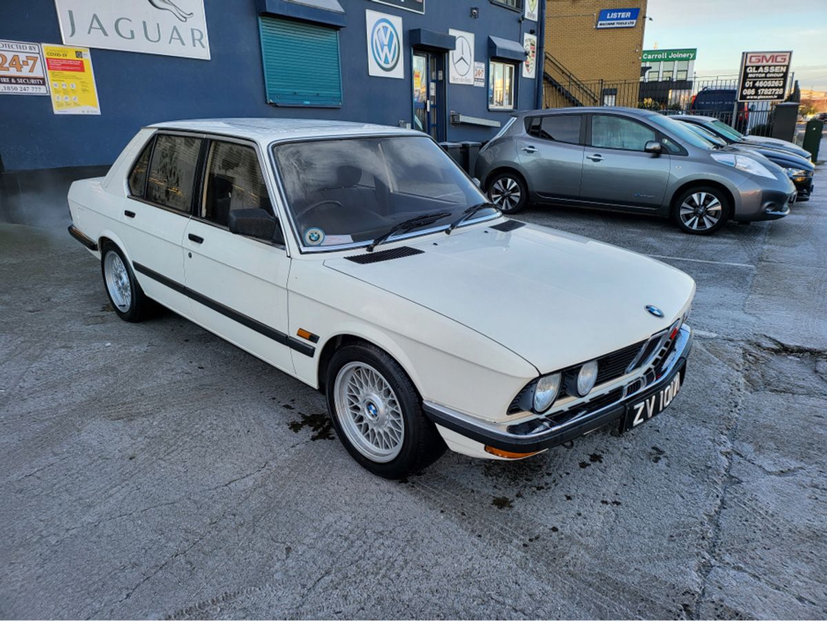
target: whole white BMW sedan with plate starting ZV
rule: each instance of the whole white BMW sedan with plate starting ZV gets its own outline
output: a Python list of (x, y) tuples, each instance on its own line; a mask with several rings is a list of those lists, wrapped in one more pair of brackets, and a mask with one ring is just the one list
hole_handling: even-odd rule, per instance
[(416, 131), (160, 123), (69, 209), (121, 318), (160, 303), (323, 391), (377, 475), (629, 431), (684, 378), (688, 275), (502, 217)]

